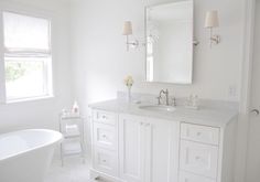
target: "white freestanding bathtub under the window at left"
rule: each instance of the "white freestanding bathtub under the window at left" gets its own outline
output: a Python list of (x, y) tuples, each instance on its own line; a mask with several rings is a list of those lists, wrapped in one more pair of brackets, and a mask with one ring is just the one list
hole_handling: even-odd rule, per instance
[(43, 182), (62, 133), (28, 129), (0, 135), (0, 182)]

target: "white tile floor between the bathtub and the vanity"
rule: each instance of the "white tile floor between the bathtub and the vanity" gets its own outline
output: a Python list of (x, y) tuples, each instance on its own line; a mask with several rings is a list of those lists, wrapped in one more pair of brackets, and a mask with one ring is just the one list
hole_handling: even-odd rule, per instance
[(66, 159), (64, 167), (59, 160), (52, 163), (44, 182), (93, 182), (89, 179), (89, 162)]

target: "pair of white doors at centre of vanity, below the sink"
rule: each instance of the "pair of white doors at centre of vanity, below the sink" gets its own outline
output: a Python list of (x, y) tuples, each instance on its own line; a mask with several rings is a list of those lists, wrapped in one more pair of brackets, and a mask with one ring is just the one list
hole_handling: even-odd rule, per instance
[(128, 182), (177, 182), (180, 122), (119, 117), (120, 176)]

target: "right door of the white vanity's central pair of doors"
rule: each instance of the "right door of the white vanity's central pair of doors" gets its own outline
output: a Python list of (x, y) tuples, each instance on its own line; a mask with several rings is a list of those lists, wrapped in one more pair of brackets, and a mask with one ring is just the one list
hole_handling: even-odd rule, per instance
[[(150, 149), (145, 162), (149, 178), (145, 182), (177, 182), (180, 122), (148, 118), (147, 141), (150, 138)], [(149, 132), (150, 128), (150, 132)]]

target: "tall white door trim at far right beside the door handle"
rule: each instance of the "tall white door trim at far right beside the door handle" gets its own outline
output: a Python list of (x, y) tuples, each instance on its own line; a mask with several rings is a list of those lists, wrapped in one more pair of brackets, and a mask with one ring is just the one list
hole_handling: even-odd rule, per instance
[(249, 109), (251, 96), (252, 78), (252, 51), (254, 31), (254, 3), (256, 0), (245, 0), (243, 12), (243, 42), (242, 42), (242, 64), (241, 64), (241, 95), (239, 105), (239, 122), (237, 137), (237, 160), (235, 180), (236, 182), (247, 181), (247, 151), (248, 151), (248, 129)]

